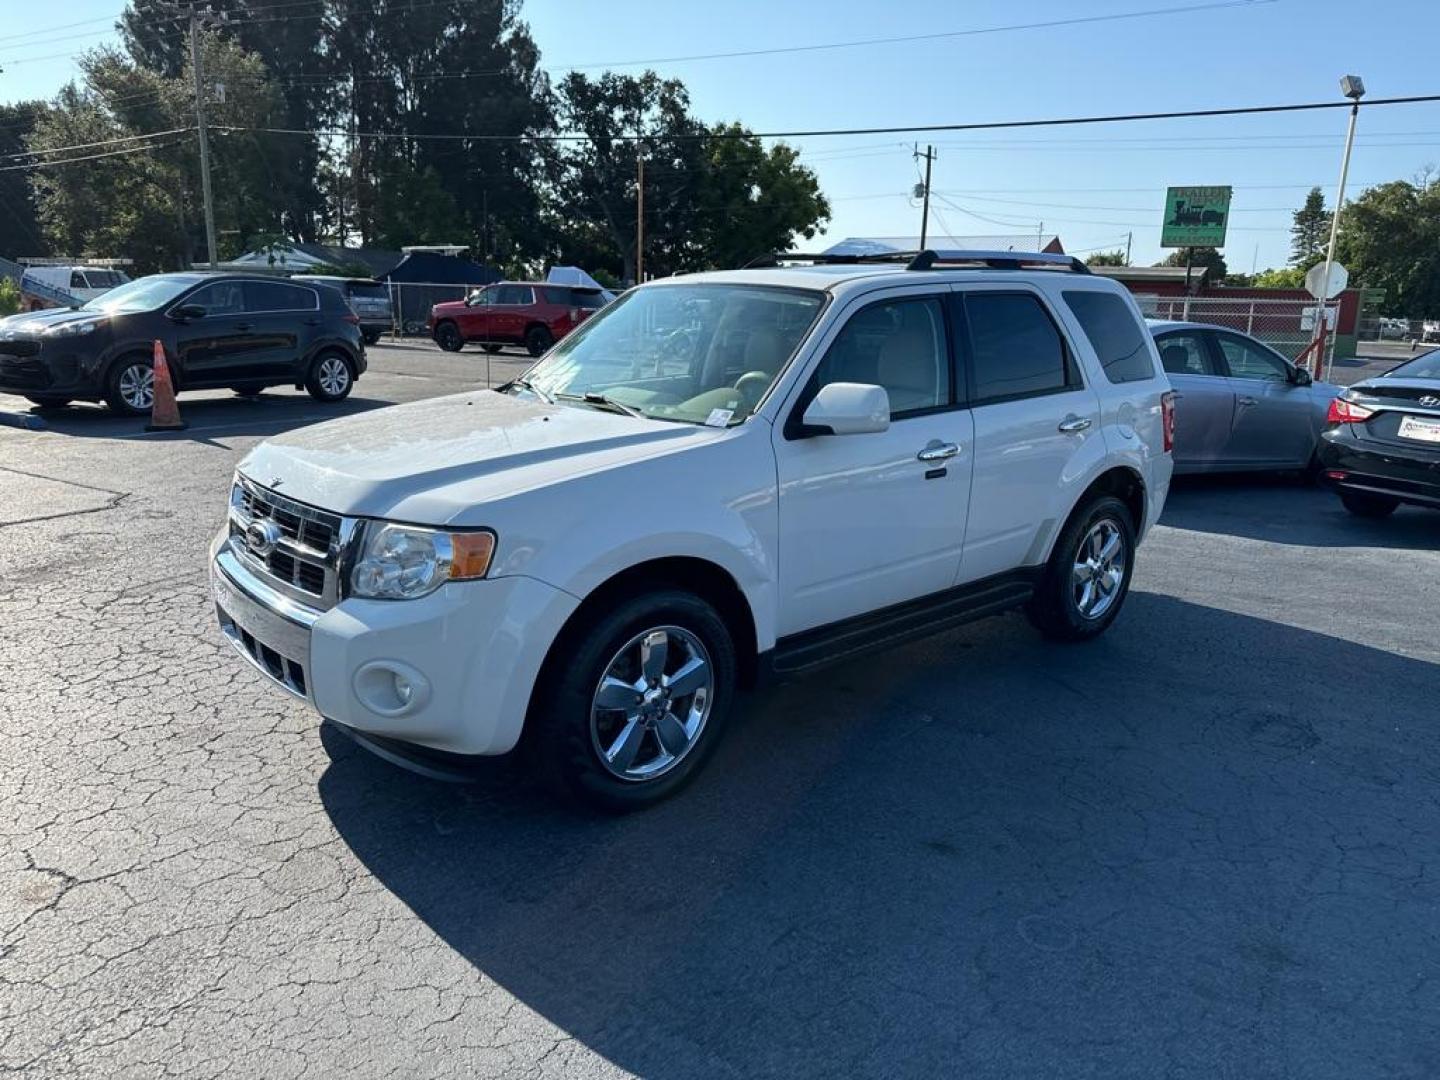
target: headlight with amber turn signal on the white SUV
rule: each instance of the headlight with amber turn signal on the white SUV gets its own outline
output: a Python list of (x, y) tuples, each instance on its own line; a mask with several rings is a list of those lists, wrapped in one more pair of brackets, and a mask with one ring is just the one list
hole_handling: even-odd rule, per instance
[(495, 534), (487, 530), (446, 533), (419, 526), (373, 523), (354, 570), (350, 595), (373, 600), (413, 600), (445, 582), (484, 577), (495, 553)]

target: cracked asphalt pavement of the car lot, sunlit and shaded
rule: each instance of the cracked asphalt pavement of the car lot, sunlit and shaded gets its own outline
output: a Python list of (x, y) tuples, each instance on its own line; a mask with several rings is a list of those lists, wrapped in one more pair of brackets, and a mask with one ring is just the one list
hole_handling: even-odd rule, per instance
[[(484, 379), (372, 359), (343, 410)], [(1182, 484), (1102, 641), (1005, 616), (753, 694), (592, 819), (230, 655), (230, 471), (331, 413), (181, 410), (0, 428), (0, 1071), (1440, 1074), (1440, 514)]]

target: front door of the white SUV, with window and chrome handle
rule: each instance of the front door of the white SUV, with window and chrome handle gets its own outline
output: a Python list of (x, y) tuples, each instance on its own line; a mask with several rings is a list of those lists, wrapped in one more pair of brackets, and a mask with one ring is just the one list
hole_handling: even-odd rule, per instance
[[(854, 311), (775, 428), (782, 636), (955, 580), (971, 415), (956, 395), (940, 297), (910, 289)], [(832, 382), (883, 386), (888, 431), (798, 432), (805, 406)]]

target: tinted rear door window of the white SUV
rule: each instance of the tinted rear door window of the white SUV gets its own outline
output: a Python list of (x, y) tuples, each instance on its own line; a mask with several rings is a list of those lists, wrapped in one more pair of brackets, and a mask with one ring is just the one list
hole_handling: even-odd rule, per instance
[(1056, 393), (1077, 383), (1064, 338), (1028, 292), (968, 292), (975, 403)]

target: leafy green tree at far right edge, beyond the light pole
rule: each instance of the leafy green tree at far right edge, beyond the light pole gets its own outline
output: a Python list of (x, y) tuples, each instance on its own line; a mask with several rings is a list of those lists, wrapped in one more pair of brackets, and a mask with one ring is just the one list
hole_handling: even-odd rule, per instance
[(1346, 203), (1338, 248), (1352, 285), (1385, 289), (1381, 314), (1440, 315), (1440, 177), (1380, 184)]

